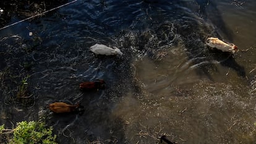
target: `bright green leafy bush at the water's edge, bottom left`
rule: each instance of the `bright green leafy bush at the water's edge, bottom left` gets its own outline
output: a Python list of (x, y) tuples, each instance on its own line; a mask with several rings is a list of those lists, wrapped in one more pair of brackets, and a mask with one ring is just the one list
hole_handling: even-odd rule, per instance
[(13, 130), (4, 129), (4, 125), (0, 126), (0, 134), (13, 133), (13, 136), (9, 137), (10, 144), (57, 144), (55, 142), (56, 135), (53, 136), (52, 130), (53, 127), (47, 129), (44, 122), (34, 121), (18, 122), (17, 127)]

